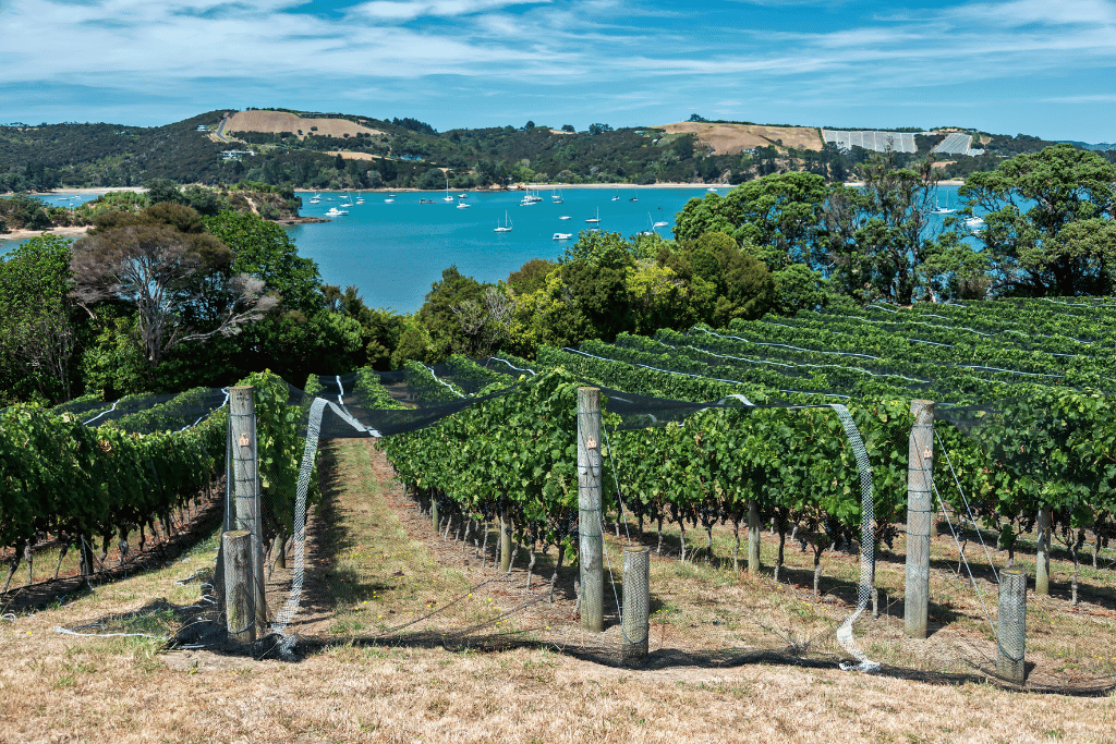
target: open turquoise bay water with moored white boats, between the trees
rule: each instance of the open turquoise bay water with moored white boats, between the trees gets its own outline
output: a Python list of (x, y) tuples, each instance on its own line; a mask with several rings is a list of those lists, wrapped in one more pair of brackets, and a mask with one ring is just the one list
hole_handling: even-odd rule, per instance
[[(451, 192), (459, 193), (466, 192)], [(728, 189), (720, 193), (727, 194)], [(554, 203), (552, 192), (540, 191), (542, 201), (530, 206), (520, 206), (523, 192), (468, 194), (468, 199), (448, 203), (444, 191), (398, 192), (388, 204), (386, 193), (365, 193), (365, 203), (347, 207), (347, 216), (295, 225), (289, 231), (299, 255), (317, 261), (326, 282), (356, 284), (371, 307), (411, 312), (422, 307), (423, 297), (441, 279), (443, 269), (456, 264), (461, 273), (478, 281), (507, 279), (531, 259), (561, 255), (577, 242), (580, 231), (595, 226), (586, 220), (596, 218), (598, 211), (597, 226), (603, 231), (627, 238), (651, 230), (654, 222), (666, 222), (656, 232), (671, 238), (675, 213), (693, 196), (704, 195), (705, 187), (566, 189), (560, 192), (561, 204)], [(310, 204), (312, 193), (299, 195), (301, 214), (307, 216), (325, 216), (344, 196), (323, 194), (319, 204)], [(619, 199), (614, 201), (614, 196)], [(638, 201), (631, 201), (633, 197)], [(420, 199), (434, 203), (420, 204)], [(470, 206), (458, 209), (459, 201)], [(569, 220), (559, 219), (564, 215)], [(511, 232), (494, 232), (506, 216)], [(573, 238), (555, 240), (556, 232), (571, 233)]]

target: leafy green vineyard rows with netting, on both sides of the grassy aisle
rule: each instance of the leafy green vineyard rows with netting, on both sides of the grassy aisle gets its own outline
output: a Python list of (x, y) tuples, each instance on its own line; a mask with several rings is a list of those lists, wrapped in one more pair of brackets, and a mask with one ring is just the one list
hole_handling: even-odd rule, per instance
[[(1098, 680), (1116, 676), (1116, 658), (1094, 653), (1116, 634), (1114, 336), (1116, 307), (1100, 302), (869, 306), (545, 347), (533, 360), (453, 357), (436, 368), (311, 377), (305, 392), (253, 376), (244, 383), (257, 388), (268, 562), (298, 553), (298, 514), (321, 497), (316, 477), (307, 503), (297, 497), (300, 464), (309, 473), (305, 437), (382, 435), (432, 531), (483, 552), (490, 526), (501, 525), (498, 539), (510, 535), (529, 555), (528, 587), (545, 564), (554, 599), (564, 566), (578, 560), (575, 399), (589, 384), (603, 392), (602, 522), (615, 547), (643, 542), (730, 576), (748, 564), (782, 587), (801, 582), (805, 557), (819, 607), (826, 595), (855, 606), (848, 554), (870, 554), (867, 580), (878, 584), (875, 562), (904, 551), (911, 404), (925, 399), (935, 404), (939, 528), (958, 538), (955, 573), (984, 592), (975, 635), (994, 638), (980, 626), (992, 622), (998, 571), (1014, 562), (1035, 574), (1022, 555), (1041, 566), (1052, 554), (1051, 582), (1039, 591), (1058, 603), (1042, 606), (1042, 617), (1099, 618), (1096, 646), (1071, 656), (1074, 679), (1086, 664), (1088, 684), (1104, 688)], [(222, 476), (222, 395), (195, 390), (135, 413), (127, 400), (6, 410), (9, 580), (37, 540), (126, 541), (212, 489)], [(206, 409), (218, 413), (195, 415)], [(748, 540), (762, 545), (744, 550)], [(872, 601), (873, 616), (887, 611), (878, 592)], [(831, 635), (841, 612), (809, 635)], [(857, 632), (870, 637), (872, 622)], [(1047, 683), (1074, 684), (1058, 676), (1068, 668), (1048, 665)]]

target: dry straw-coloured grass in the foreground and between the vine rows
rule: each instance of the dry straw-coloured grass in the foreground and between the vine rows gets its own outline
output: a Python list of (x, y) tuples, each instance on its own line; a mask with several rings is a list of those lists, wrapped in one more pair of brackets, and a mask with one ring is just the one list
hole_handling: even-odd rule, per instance
[[(371, 629), (365, 637), (382, 627), (391, 631), (455, 599), (424, 622), (494, 622), (501, 609), (521, 599), (509, 584), (478, 587), (493, 578), (491, 569), (481, 569), (472, 548), (463, 551), (460, 543), (433, 537), (378, 457), (364, 442), (339, 443), (335, 464), (323, 467), (327, 499), (315, 515), (311, 545), (320, 559), (310, 571), (317, 595), (299, 628), (300, 634), (333, 639), (320, 650), (298, 663), (258, 661), (198, 650), (162, 653), (145, 639), (54, 631), (55, 626), (80, 625), (160, 597), (176, 605), (195, 601), (196, 584), (175, 580), (212, 564), (215, 540), (210, 538), (162, 570), (0, 626), (6, 659), (0, 741), (1116, 741), (1112, 696), (1019, 694), (978, 682), (931, 685), (829, 665), (687, 663), (699, 658), (694, 646), (742, 645), (770, 635), (743, 618), (764, 612), (772, 619), (792, 617), (795, 622), (787, 625), (807, 634), (825, 626), (844, 601), (845, 558), (827, 559), (824, 590), (835, 601), (815, 603), (805, 588), (734, 574), (723, 533), (714, 533), (721, 542), (714, 543), (718, 558), (712, 563), (680, 564), (668, 557), (653, 561), (652, 648), (677, 650), (681, 660), (673, 664), (620, 669), (543, 645), (451, 651), (360, 641), (356, 624)], [(770, 560), (767, 551), (773, 545), (766, 540), (764, 558)], [(609, 543), (615, 555), (615, 538)], [(729, 569), (716, 566), (724, 555), (730, 555)], [(793, 561), (802, 560), (801, 553), (795, 555)], [(884, 583), (898, 580), (892, 568), (882, 563)], [(943, 570), (939, 567), (935, 576)], [(517, 572), (521, 579), (521, 568)], [(549, 578), (548, 570), (543, 573)], [(792, 579), (806, 586), (802, 576)], [(944, 580), (932, 591), (953, 591), (947, 601), (960, 602), (962, 592), (952, 584)], [(568, 602), (562, 592), (546, 611), (568, 616)], [(516, 637), (545, 635), (546, 626), (533, 625), (538, 617), (510, 616), (512, 630), (521, 631)], [(894, 632), (894, 617), (877, 622)], [(946, 631), (963, 632), (953, 629), (956, 620), (950, 622), (934, 635), (937, 641), (925, 644), (942, 644)], [(1061, 621), (1036, 622), (1054, 635)], [(877, 640), (885, 639), (881, 635)]]

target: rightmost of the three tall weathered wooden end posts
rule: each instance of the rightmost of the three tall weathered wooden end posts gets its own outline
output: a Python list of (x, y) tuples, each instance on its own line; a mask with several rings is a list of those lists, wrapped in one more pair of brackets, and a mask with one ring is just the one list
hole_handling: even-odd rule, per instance
[(903, 629), (911, 638), (926, 637), (930, 610), (930, 530), (934, 511), (934, 404), (912, 400), (907, 463), (906, 596)]

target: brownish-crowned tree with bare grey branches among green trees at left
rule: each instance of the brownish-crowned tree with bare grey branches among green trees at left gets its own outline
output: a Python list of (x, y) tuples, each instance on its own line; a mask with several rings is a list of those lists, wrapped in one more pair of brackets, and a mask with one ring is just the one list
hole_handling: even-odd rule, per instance
[[(96, 318), (95, 306), (109, 298), (135, 308), (136, 341), (151, 368), (170, 349), (237, 334), (275, 306), (276, 298), (263, 294), (263, 281), (247, 274), (223, 274), (228, 279), (215, 291), (200, 296), (192, 280), (222, 276), (232, 261), (229, 248), (212, 235), (146, 216), (145, 223), (98, 229), (77, 241), (70, 270), (75, 297), (90, 317)], [(209, 303), (209, 312), (200, 307)], [(206, 315), (209, 327), (187, 322), (189, 317)]]

